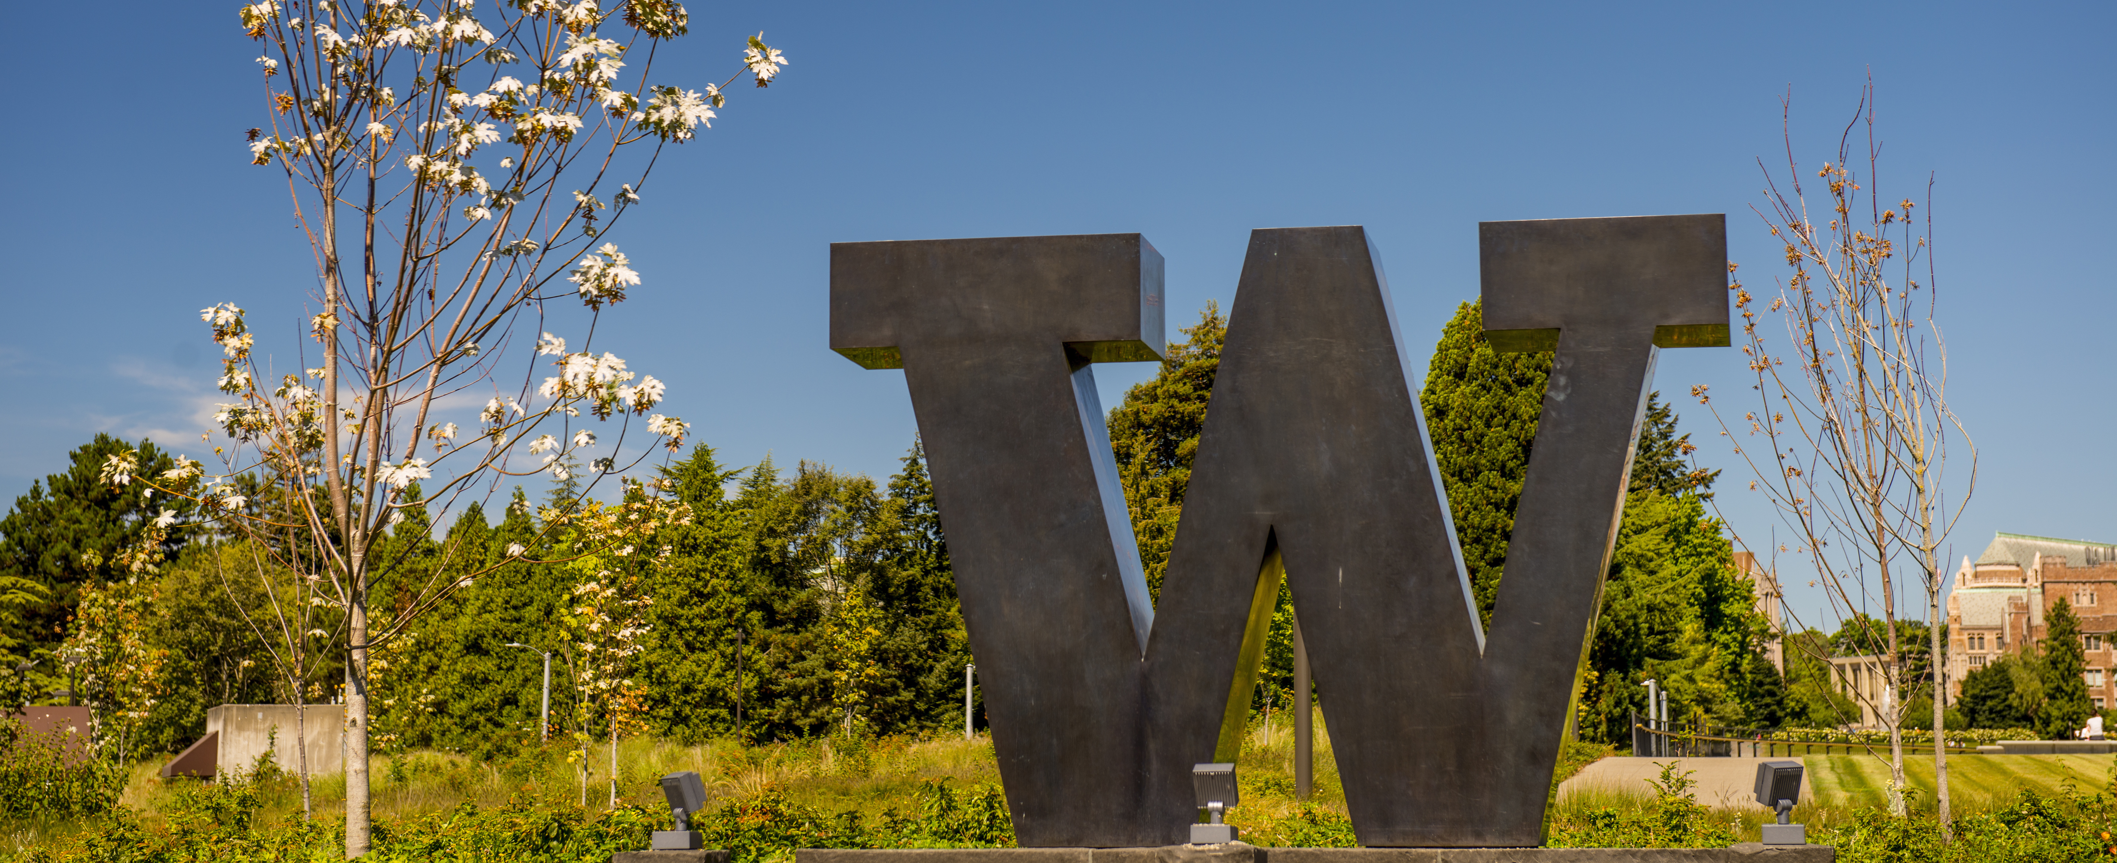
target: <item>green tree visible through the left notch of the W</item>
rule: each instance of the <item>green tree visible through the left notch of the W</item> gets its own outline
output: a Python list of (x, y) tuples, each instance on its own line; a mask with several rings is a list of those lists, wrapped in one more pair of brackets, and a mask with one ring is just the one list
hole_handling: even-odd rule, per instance
[(1124, 484), (1124, 499), (1133, 510), (1139, 563), (1154, 599), (1162, 594), (1169, 550), (1175, 548), (1177, 520), (1183, 516), (1183, 489), (1198, 455), (1198, 434), (1205, 432), (1205, 408), (1213, 398), (1228, 317), (1219, 313), (1217, 302), (1207, 302), (1198, 324), (1181, 332), (1190, 338), (1169, 343), (1160, 372), (1126, 389), (1124, 402), (1109, 412), (1118, 482)]

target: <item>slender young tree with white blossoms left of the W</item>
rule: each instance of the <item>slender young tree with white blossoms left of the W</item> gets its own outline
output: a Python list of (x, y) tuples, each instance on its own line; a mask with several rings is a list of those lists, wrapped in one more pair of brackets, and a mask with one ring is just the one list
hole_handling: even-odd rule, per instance
[[(406, 508), (453, 510), (510, 476), (584, 480), (586, 495), (682, 444), (686, 423), (652, 412), (665, 385), (593, 343), (601, 313), (641, 283), (608, 237), (663, 148), (709, 127), (722, 87), (743, 74), (766, 87), (788, 59), (758, 34), (720, 85), (654, 80), (656, 51), (690, 23), (673, 0), (260, 0), (239, 17), (265, 49), (269, 112), (248, 157), (284, 173), (313, 252), (313, 343), (298, 341), (303, 368), (271, 368), (243, 309), (205, 309), (227, 357), (220, 389), (235, 398), (214, 417), (231, 438), (214, 446), (220, 463), (138, 476), (135, 459), (114, 457), (106, 478), (203, 501), (343, 609), (345, 852), (360, 857), (368, 656), (470, 582), (442, 561), (409, 580), (400, 611), (377, 616), (377, 537)], [(572, 347), (544, 332), (563, 322)], [(277, 506), (246, 506), (243, 474), (273, 478)], [(572, 554), (599, 548), (595, 525), (569, 531)], [(294, 548), (263, 541), (290, 533)]]

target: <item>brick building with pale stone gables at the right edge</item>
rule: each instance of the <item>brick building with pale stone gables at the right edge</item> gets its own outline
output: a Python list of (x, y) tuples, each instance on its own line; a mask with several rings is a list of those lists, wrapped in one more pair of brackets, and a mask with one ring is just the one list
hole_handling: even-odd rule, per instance
[(1948, 592), (1948, 698), (1994, 658), (2043, 641), (2043, 613), (2064, 599), (2081, 618), (2087, 698), (2117, 704), (2111, 635), (2117, 632), (2117, 546), (1996, 533), (1977, 563), (1962, 558)]

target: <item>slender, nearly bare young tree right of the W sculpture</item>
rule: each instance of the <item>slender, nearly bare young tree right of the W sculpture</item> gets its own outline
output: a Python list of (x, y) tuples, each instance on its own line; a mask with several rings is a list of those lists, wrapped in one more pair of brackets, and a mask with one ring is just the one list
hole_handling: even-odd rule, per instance
[[(1791, 102), (1787, 116), (1787, 182), (1768, 176), (1766, 228), (1785, 243), (1791, 273), (1759, 309), (1757, 296), (1734, 283), (1742, 313), (1742, 353), (1755, 374), (1757, 406), (1736, 423), (1715, 406), (1723, 436), (1757, 436), (1763, 446), (1740, 446), (1761, 491), (1791, 529), (1793, 552), (1819, 575), (1840, 618), (1878, 609), (1861, 643), (1886, 668), (1878, 702), (1890, 738), (1890, 812), (1903, 814), (1903, 643), (1899, 592), (1905, 571), (1916, 571), (1926, 592), (1929, 651), (1941, 656), (1939, 590), (1946, 571), (1941, 544), (1962, 514), (1975, 482), (1977, 453), (1948, 408), (1948, 349), (1933, 319), (1935, 277), (1931, 207), (1926, 222), (1916, 203), (1888, 203), (1880, 195), (1880, 140), (1876, 137), (1874, 85), (1861, 93), (1854, 121), (1825, 163), (1821, 201), (1812, 214), (1802, 167), (1793, 159)], [(1865, 152), (1854, 150), (1865, 127)], [(1852, 163), (1865, 171), (1854, 173)], [(1931, 182), (1929, 182), (1931, 186)], [(1931, 201), (1929, 201), (1931, 203)], [(1821, 220), (1821, 222), (1819, 222)], [(1734, 271), (1734, 262), (1727, 264)], [(1922, 269), (1922, 271), (1920, 271)], [(1759, 330), (1761, 315), (1778, 315), (1785, 347)], [(1713, 406), (1704, 387), (1691, 393)], [(1948, 446), (1960, 446), (1971, 482), (1958, 497), (1943, 484)], [(1865, 696), (1863, 696), (1865, 698)], [(1933, 702), (1933, 723), (1941, 726)], [(1939, 776), (1939, 823), (1948, 838), (1948, 755), (1933, 753)]]

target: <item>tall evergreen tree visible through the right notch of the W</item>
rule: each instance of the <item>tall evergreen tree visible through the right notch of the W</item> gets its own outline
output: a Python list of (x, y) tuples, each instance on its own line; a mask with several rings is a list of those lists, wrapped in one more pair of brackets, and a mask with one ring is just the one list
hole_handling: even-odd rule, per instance
[(1507, 537), (1528, 476), (1552, 353), (1499, 353), (1484, 341), (1484, 313), (1463, 302), (1442, 328), (1418, 404), (1454, 512), (1456, 541), (1486, 626), (1507, 563)]

